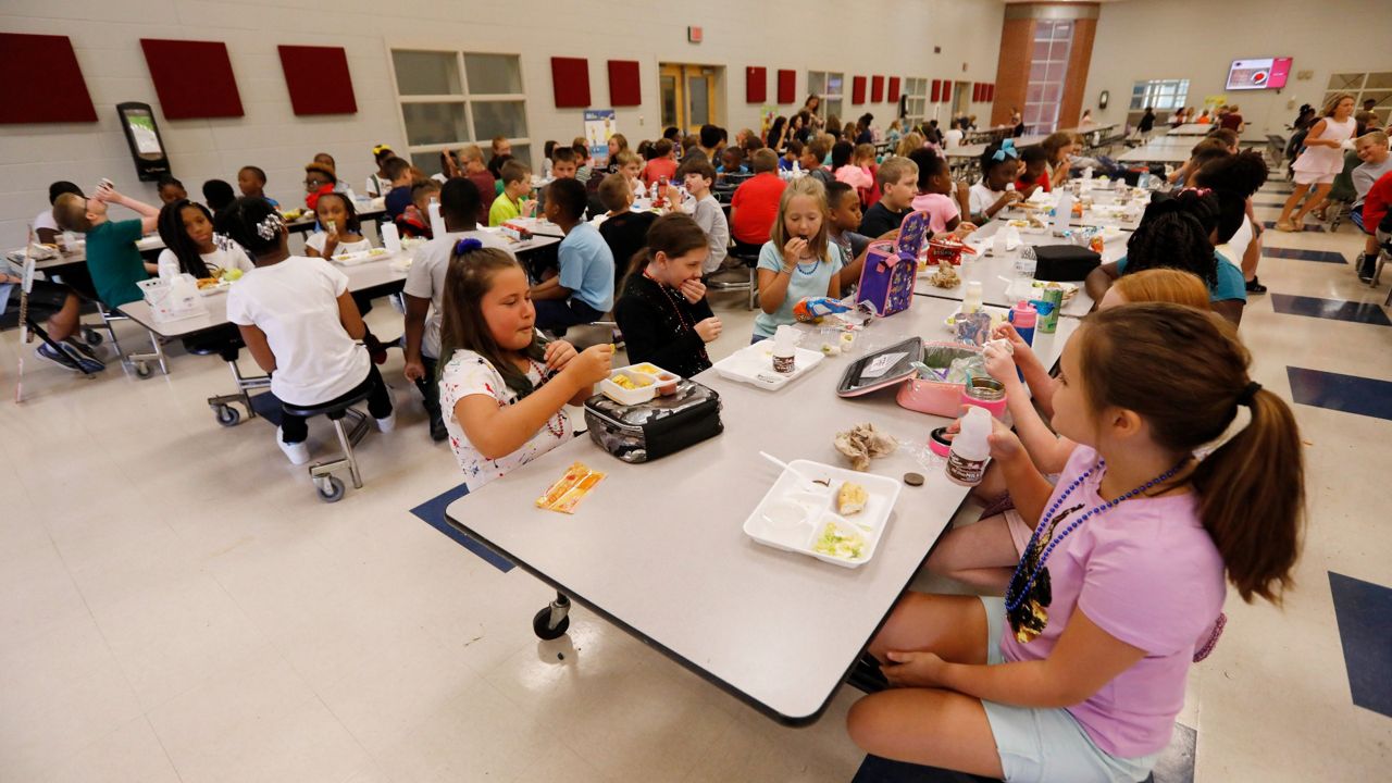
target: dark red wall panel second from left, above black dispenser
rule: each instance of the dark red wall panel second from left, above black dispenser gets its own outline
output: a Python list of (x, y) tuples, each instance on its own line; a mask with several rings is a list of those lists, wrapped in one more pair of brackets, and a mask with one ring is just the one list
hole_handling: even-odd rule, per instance
[(221, 40), (142, 38), (141, 49), (166, 120), (242, 116), (242, 96)]

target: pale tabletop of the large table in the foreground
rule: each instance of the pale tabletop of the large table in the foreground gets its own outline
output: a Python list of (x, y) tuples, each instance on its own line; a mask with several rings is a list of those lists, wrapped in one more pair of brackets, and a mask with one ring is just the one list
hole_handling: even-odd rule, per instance
[[(910, 334), (944, 339), (942, 320), (955, 309), (947, 300), (916, 297), (909, 311), (871, 323), (853, 354)], [(1058, 334), (1040, 337), (1062, 344), (1075, 327), (1075, 319), (1059, 319)], [(924, 468), (901, 447), (876, 460), (871, 472), (899, 481), (913, 471), (927, 482), (903, 488), (884, 541), (860, 568), (770, 549), (743, 534), (746, 515), (778, 476), (760, 450), (844, 465), (831, 444), (838, 429), (873, 422), (922, 444), (947, 424), (898, 407), (892, 389), (837, 397), (851, 361), (824, 359), (775, 393), (707, 371), (697, 379), (721, 394), (721, 436), (643, 465), (624, 464), (583, 437), (457, 500), (447, 515), (771, 718), (809, 723), (966, 496), (941, 465)], [(774, 424), (773, 411), (795, 412), (796, 421)], [(574, 515), (536, 509), (536, 497), (575, 460), (608, 476)]]

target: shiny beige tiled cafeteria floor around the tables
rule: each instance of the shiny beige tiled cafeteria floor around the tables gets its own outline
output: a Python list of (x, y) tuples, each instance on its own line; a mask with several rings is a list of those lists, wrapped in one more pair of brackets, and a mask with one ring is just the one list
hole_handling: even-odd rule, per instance
[[(1359, 245), (1347, 226), (1267, 242), (1350, 259)], [(1274, 255), (1272, 293), (1374, 309), (1385, 295), (1350, 265)], [(718, 355), (749, 333), (738, 298), (717, 302)], [(1261, 383), (1289, 398), (1288, 366), (1392, 380), (1392, 329), (1321, 312), (1253, 298), (1242, 332)], [(379, 307), (374, 332), (397, 334), (394, 318)], [(174, 375), (136, 382), (29, 357), (14, 405), (15, 351), (0, 334), (0, 780), (845, 782), (860, 765), (842, 727), (855, 691), (789, 730), (583, 610), (568, 639), (539, 644), (529, 619), (548, 591), (411, 514), (459, 474), (400, 354), (386, 366), (398, 431), (367, 436), (366, 488), (326, 506), (264, 422), (213, 421), (203, 400), (228, 380), (216, 358), (178, 355)], [(1350, 677), (1328, 575), (1392, 585), (1392, 422), (1296, 414), (1299, 589), (1285, 609), (1229, 600), (1193, 670), (1180, 723), (1197, 730), (1200, 782), (1374, 780), (1392, 763), (1392, 718), (1350, 692), (1350, 679), (1392, 688), (1392, 673)], [(1385, 624), (1368, 639), (1392, 644)]]

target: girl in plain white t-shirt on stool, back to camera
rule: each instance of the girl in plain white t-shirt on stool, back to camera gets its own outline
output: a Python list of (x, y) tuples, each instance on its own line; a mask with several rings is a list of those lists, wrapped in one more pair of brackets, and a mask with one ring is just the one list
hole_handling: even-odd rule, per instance
[[(366, 326), (348, 293), (348, 276), (320, 258), (290, 255), (285, 222), (266, 199), (237, 199), (226, 216), (232, 238), (256, 256), (256, 269), (227, 293), (227, 319), (270, 373), (270, 390), (294, 405), (323, 405), (366, 392), (377, 429), (391, 432), (397, 421), (391, 392), (358, 344)], [(285, 414), (277, 432), (291, 463), (309, 461), (303, 418)]]

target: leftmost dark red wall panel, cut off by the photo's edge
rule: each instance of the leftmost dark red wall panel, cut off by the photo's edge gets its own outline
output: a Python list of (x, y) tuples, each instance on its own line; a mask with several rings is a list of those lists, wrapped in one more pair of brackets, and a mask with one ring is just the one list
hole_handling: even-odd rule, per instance
[(68, 36), (0, 32), (0, 124), (96, 121)]

